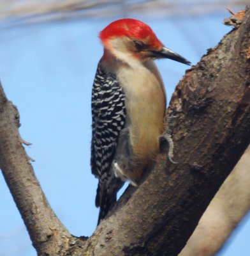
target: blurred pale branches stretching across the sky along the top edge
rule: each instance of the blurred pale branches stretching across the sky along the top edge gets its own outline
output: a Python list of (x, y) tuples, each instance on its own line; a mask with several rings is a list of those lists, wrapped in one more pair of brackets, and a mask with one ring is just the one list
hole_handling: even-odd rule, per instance
[[(2, 1), (0, 19), (11, 21), (15, 25), (34, 24), (56, 20), (85, 19), (87, 17), (113, 17), (120, 15), (150, 15), (154, 17), (195, 16), (206, 13), (221, 12), (226, 7), (242, 6), (247, 0), (233, 0), (225, 5), (224, 1), (162, 1), (162, 0), (12, 0)], [(182, 6), (182, 8), (180, 8)], [(5, 25), (3, 25), (5, 28)]]

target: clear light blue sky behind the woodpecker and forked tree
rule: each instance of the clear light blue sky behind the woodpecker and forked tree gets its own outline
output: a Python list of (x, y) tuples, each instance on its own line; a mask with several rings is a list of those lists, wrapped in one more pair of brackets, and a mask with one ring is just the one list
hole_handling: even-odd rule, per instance
[[(221, 15), (182, 19), (141, 19), (159, 40), (193, 64), (230, 31)], [(115, 19), (115, 18), (114, 18)], [(20, 112), (20, 133), (41, 187), (57, 216), (75, 236), (96, 227), (97, 180), (89, 165), (91, 88), (102, 55), (98, 33), (114, 19), (8, 28), (1, 31), (0, 79)], [(119, 17), (117, 17), (119, 19)], [(185, 65), (157, 61), (168, 93), (184, 75)], [(36, 255), (10, 192), (0, 176), (0, 256)], [(248, 256), (250, 218), (220, 256)], [(11, 248), (11, 250), (10, 250)]]

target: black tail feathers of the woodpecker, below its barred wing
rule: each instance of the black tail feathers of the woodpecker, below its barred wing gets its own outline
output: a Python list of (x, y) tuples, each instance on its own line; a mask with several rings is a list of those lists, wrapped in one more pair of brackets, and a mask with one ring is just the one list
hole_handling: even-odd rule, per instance
[(100, 221), (107, 216), (108, 212), (114, 206), (117, 201), (117, 192), (124, 184), (121, 179), (117, 179), (115, 177), (112, 179), (112, 182), (103, 183), (99, 182), (98, 189), (96, 191), (96, 207), (100, 207), (97, 225), (99, 225)]

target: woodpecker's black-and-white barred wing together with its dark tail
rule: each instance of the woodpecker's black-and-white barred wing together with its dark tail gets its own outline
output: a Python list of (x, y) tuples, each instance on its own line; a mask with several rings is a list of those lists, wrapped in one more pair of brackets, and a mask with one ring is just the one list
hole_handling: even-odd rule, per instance
[(125, 95), (114, 74), (98, 65), (92, 88), (92, 141), (91, 169), (99, 179), (96, 207), (100, 207), (98, 224), (116, 202), (117, 191), (122, 187), (111, 164), (119, 134), (126, 122)]

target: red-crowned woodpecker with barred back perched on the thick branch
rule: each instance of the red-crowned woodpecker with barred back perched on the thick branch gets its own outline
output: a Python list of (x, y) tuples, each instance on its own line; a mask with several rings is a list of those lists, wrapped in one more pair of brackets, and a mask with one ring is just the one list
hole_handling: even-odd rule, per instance
[(124, 182), (136, 186), (154, 163), (163, 134), (166, 93), (154, 60), (190, 65), (140, 20), (120, 19), (99, 33), (104, 51), (92, 87), (91, 170), (99, 179), (99, 221)]

